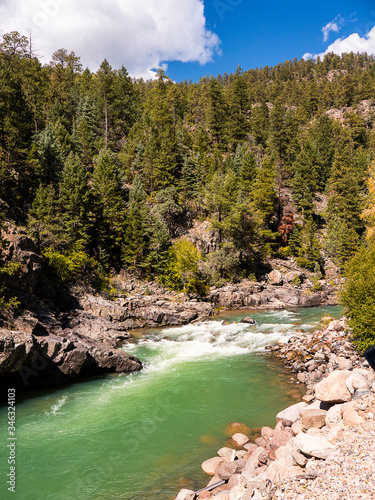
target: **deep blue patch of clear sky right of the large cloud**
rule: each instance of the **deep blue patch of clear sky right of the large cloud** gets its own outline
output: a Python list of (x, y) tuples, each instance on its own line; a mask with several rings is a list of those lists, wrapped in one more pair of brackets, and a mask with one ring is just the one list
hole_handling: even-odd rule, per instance
[[(176, 80), (193, 81), (209, 74), (217, 76), (236, 70), (266, 65), (273, 66), (306, 53), (320, 54), (335, 40), (353, 33), (364, 37), (375, 26), (375, 2), (205, 0), (207, 27), (221, 40), (222, 55), (213, 61), (199, 63), (168, 63), (168, 75)], [(332, 22), (338, 32), (322, 28)], [(331, 26), (331, 27), (332, 27)], [(335, 26), (333, 26), (336, 29)], [(375, 45), (373, 46), (375, 54)]]

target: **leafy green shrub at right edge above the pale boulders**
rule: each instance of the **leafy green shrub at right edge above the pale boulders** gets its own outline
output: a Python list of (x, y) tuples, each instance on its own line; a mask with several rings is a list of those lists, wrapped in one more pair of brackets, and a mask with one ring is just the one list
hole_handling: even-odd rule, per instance
[(375, 344), (375, 243), (363, 246), (345, 266), (345, 285), (340, 302), (363, 352)]

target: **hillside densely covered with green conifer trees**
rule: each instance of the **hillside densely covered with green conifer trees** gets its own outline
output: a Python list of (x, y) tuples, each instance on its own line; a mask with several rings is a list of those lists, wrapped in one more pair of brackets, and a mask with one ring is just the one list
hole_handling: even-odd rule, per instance
[[(63, 280), (126, 269), (204, 293), (270, 256), (342, 265), (363, 237), (374, 56), (146, 82), (64, 49), (42, 64), (12, 32), (0, 82), (3, 224), (25, 227)], [(181, 236), (205, 220), (203, 255)]]

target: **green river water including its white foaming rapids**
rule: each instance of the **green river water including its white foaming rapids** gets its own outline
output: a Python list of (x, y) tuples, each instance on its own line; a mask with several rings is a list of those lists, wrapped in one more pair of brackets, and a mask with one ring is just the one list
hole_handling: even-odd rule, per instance
[(295, 402), (290, 374), (264, 346), (340, 309), (252, 311), (255, 326), (238, 323), (247, 314), (142, 332), (125, 348), (145, 363), (140, 373), (16, 395), (16, 492), (3, 407), (0, 498), (169, 500), (205, 486), (200, 464), (225, 445), (229, 423), (274, 426)]

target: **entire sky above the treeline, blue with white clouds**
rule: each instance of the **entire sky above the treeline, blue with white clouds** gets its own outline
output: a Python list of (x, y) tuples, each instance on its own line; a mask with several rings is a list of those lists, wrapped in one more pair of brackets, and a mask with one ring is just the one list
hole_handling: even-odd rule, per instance
[(373, 0), (1, 0), (0, 34), (32, 36), (42, 63), (65, 48), (96, 71), (175, 81), (273, 66), (327, 50), (375, 54)]

